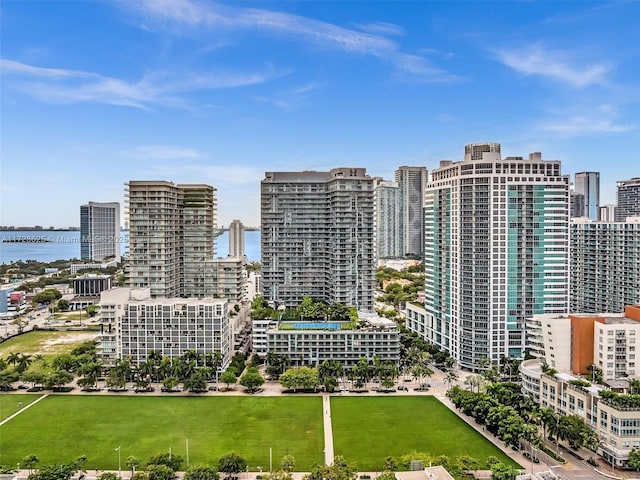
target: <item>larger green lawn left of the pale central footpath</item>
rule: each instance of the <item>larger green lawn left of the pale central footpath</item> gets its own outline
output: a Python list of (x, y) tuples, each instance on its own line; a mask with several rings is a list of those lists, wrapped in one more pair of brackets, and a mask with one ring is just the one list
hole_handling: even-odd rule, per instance
[(249, 468), (274, 467), (291, 454), (297, 468), (321, 463), (320, 397), (136, 397), (52, 395), (0, 426), (0, 464), (34, 453), (40, 463), (86, 455), (90, 469), (117, 469), (129, 455), (142, 462), (157, 453), (215, 465), (224, 453), (247, 458)]

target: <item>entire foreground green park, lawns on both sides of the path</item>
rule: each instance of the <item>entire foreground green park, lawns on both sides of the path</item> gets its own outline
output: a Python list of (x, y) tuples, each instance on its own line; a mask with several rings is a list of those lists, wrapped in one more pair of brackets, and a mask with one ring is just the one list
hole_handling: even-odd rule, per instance
[[(0, 395), (0, 418), (38, 395)], [(336, 455), (361, 471), (379, 471), (388, 456), (412, 451), (437, 456), (495, 456), (512, 461), (433, 396), (331, 398)], [(279, 464), (296, 469), (323, 463), (320, 396), (160, 397), (49, 395), (0, 426), (0, 464), (35, 454), (42, 464), (87, 457), (87, 468), (117, 470), (134, 456), (145, 462), (171, 451), (191, 464), (215, 465), (226, 453), (251, 471)], [(119, 449), (119, 450), (117, 450)], [(120, 461), (120, 466), (118, 462)]]

